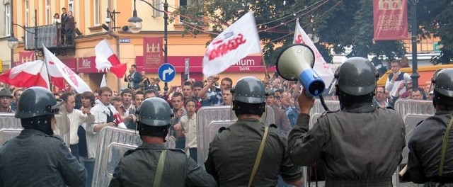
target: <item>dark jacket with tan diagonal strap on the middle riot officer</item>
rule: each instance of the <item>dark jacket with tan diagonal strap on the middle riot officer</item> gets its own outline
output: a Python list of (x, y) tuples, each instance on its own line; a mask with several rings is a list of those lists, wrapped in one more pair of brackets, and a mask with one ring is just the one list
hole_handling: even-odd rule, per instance
[[(258, 120), (238, 120), (214, 137), (205, 168), (219, 186), (247, 186), (264, 130), (265, 125)], [(252, 186), (277, 186), (279, 175), (285, 181), (302, 178), (302, 171), (291, 163), (286, 149), (286, 137), (269, 128)]]

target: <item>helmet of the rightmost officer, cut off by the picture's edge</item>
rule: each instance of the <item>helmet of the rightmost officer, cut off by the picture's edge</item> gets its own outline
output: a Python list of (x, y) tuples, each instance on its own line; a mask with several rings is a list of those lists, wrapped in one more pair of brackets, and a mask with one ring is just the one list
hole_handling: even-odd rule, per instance
[(432, 103), (453, 106), (453, 68), (442, 69), (432, 76), (434, 98)]

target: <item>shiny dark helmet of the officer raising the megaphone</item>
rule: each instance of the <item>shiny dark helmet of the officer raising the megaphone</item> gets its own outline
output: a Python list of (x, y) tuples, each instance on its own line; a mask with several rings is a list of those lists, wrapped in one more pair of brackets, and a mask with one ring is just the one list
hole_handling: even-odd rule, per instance
[(379, 74), (369, 60), (351, 57), (337, 69), (335, 78), (341, 92), (351, 96), (365, 96), (374, 93)]

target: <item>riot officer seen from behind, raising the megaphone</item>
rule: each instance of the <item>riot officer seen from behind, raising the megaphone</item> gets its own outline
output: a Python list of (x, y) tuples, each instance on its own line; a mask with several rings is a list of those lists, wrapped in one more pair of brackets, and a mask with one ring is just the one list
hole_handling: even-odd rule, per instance
[(310, 130), (314, 98), (300, 94), (297, 125), (289, 132), (292, 162), (311, 166), (322, 159), (326, 186), (391, 186), (405, 146), (401, 116), (374, 106), (378, 74), (369, 60), (349, 58), (335, 77), (340, 111), (324, 113)]

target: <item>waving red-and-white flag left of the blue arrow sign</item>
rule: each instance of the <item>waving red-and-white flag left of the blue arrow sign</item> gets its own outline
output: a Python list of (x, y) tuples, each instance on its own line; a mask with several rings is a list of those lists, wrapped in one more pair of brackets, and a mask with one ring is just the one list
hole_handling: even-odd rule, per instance
[(126, 64), (121, 64), (117, 55), (113, 53), (112, 47), (108, 43), (108, 40), (104, 38), (101, 42), (94, 47), (96, 51), (96, 69), (98, 72), (106, 72), (110, 69), (110, 72), (116, 75), (118, 78), (122, 78), (126, 73)]

